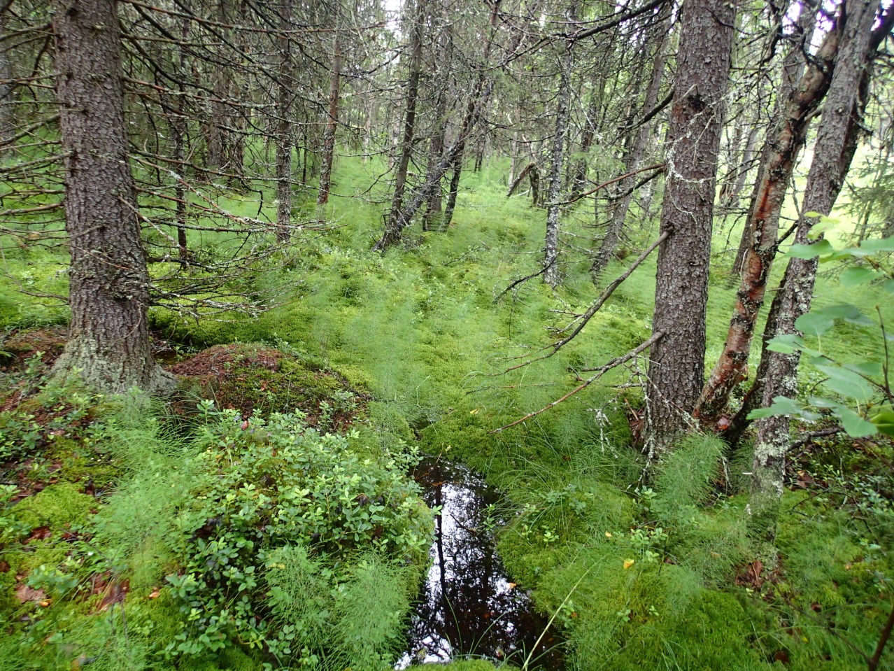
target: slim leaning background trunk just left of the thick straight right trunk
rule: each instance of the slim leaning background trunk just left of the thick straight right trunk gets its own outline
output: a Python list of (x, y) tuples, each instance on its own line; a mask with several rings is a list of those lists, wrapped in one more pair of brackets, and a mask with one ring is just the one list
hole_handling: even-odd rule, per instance
[[(670, 4), (667, 5), (670, 8)], [(645, 100), (643, 101), (643, 110), (645, 112), (654, 108), (658, 102), (658, 92), (662, 88), (662, 75), (664, 74), (664, 47), (667, 43), (667, 32), (662, 32), (662, 38), (659, 39), (658, 46), (655, 50), (655, 57), (652, 63), (652, 74), (649, 78), (649, 87), (645, 91)], [(627, 165), (624, 172), (629, 173), (639, 167), (645, 156), (646, 143), (652, 136), (652, 124), (643, 123), (636, 131), (633, 139), (633, 145), (630, 147)], [(594, 283), (598, 283), (605, 268), (611, 262), (615, 250), (618, 248), (621, 231), (624, 229), (624, 221), (627, 219), (627, 213), (630, 208), (630, 202), (633, 200), (633, 186), (637, 183), (637, 176), (628, 177), (618, 183), (618, 193), (624, 195), (620, 197), (614, 207), (611, 208), (611, 219), (609, 220), (608, 230), (605, 232), (603, 244), (593, 260), (590, 267), (590, 275), (593, 277)]]

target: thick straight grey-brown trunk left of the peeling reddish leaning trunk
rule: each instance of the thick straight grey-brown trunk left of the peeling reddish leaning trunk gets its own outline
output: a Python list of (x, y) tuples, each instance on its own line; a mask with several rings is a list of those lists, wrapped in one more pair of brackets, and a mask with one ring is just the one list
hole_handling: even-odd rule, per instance
[(687, 429), (704, 382), (704, 320), (717, 155), (730, 75), (734, 4), (683, 5), (646, 388), (650, 454)]

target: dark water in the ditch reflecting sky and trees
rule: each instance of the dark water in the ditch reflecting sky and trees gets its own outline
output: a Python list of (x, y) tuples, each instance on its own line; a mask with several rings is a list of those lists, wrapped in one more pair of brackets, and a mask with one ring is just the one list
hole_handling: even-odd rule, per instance
[[(488, 506), (499, 494), (459, 464), (426, 458), (413, 477), (430, 506), (442, 506), (430, 550), (434, 565), (407, 634), (407, 650), (395, 668), (462, 658), (510, 660), (530, 669), (561, 671), (561, 639), (548, 618), (536, 614), (524, 590), (510, 582), (494, 549)], [(489, 517), (490, 520), (489, 520)], [(490, 523), (489, 523), (490, 522)]]

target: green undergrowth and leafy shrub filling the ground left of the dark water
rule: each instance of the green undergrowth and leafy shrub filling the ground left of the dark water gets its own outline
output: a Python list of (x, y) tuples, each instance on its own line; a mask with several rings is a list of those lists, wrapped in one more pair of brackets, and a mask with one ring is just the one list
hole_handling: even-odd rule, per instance
[(116, 477), (99, 498), (89, 463), (20, 503), (4, 488), (0, 668), (391, 667), (431, 542), (416, 453), (199, 410), (94, 398), (89, 424), (41, 438)]

